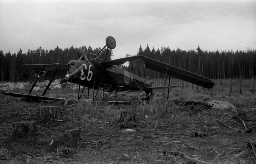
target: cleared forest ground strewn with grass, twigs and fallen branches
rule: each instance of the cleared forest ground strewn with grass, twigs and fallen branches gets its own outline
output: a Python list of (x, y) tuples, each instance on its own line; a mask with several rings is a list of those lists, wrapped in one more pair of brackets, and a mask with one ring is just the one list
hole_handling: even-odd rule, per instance
[[(256, 163), (255, 95), (202, 89), (177, 89), (170, 94), (171, 100), (225, 100), (236, 109), (210, 109), (205, 103), (175, 104), (161, 100), (160, 95), (155, 94), (150, 103), (141, 103), (136, 94), (120, 93), (116, 100), (133, 103), (79, 101), (64, 106), (63, 102), (31, 103), (1, 94), (0, 162)], [(36, 119), (41, 106), (60, 106), (65, 116)], [(136, 120), (121, 122), (121, 111), (132, 113)], [(38, 135), (12, 137), (12, 122), (28, 120), (36, 121)], [(80, 134), (68, 137), (65, 131), (69, 129), (79, 129)]]

